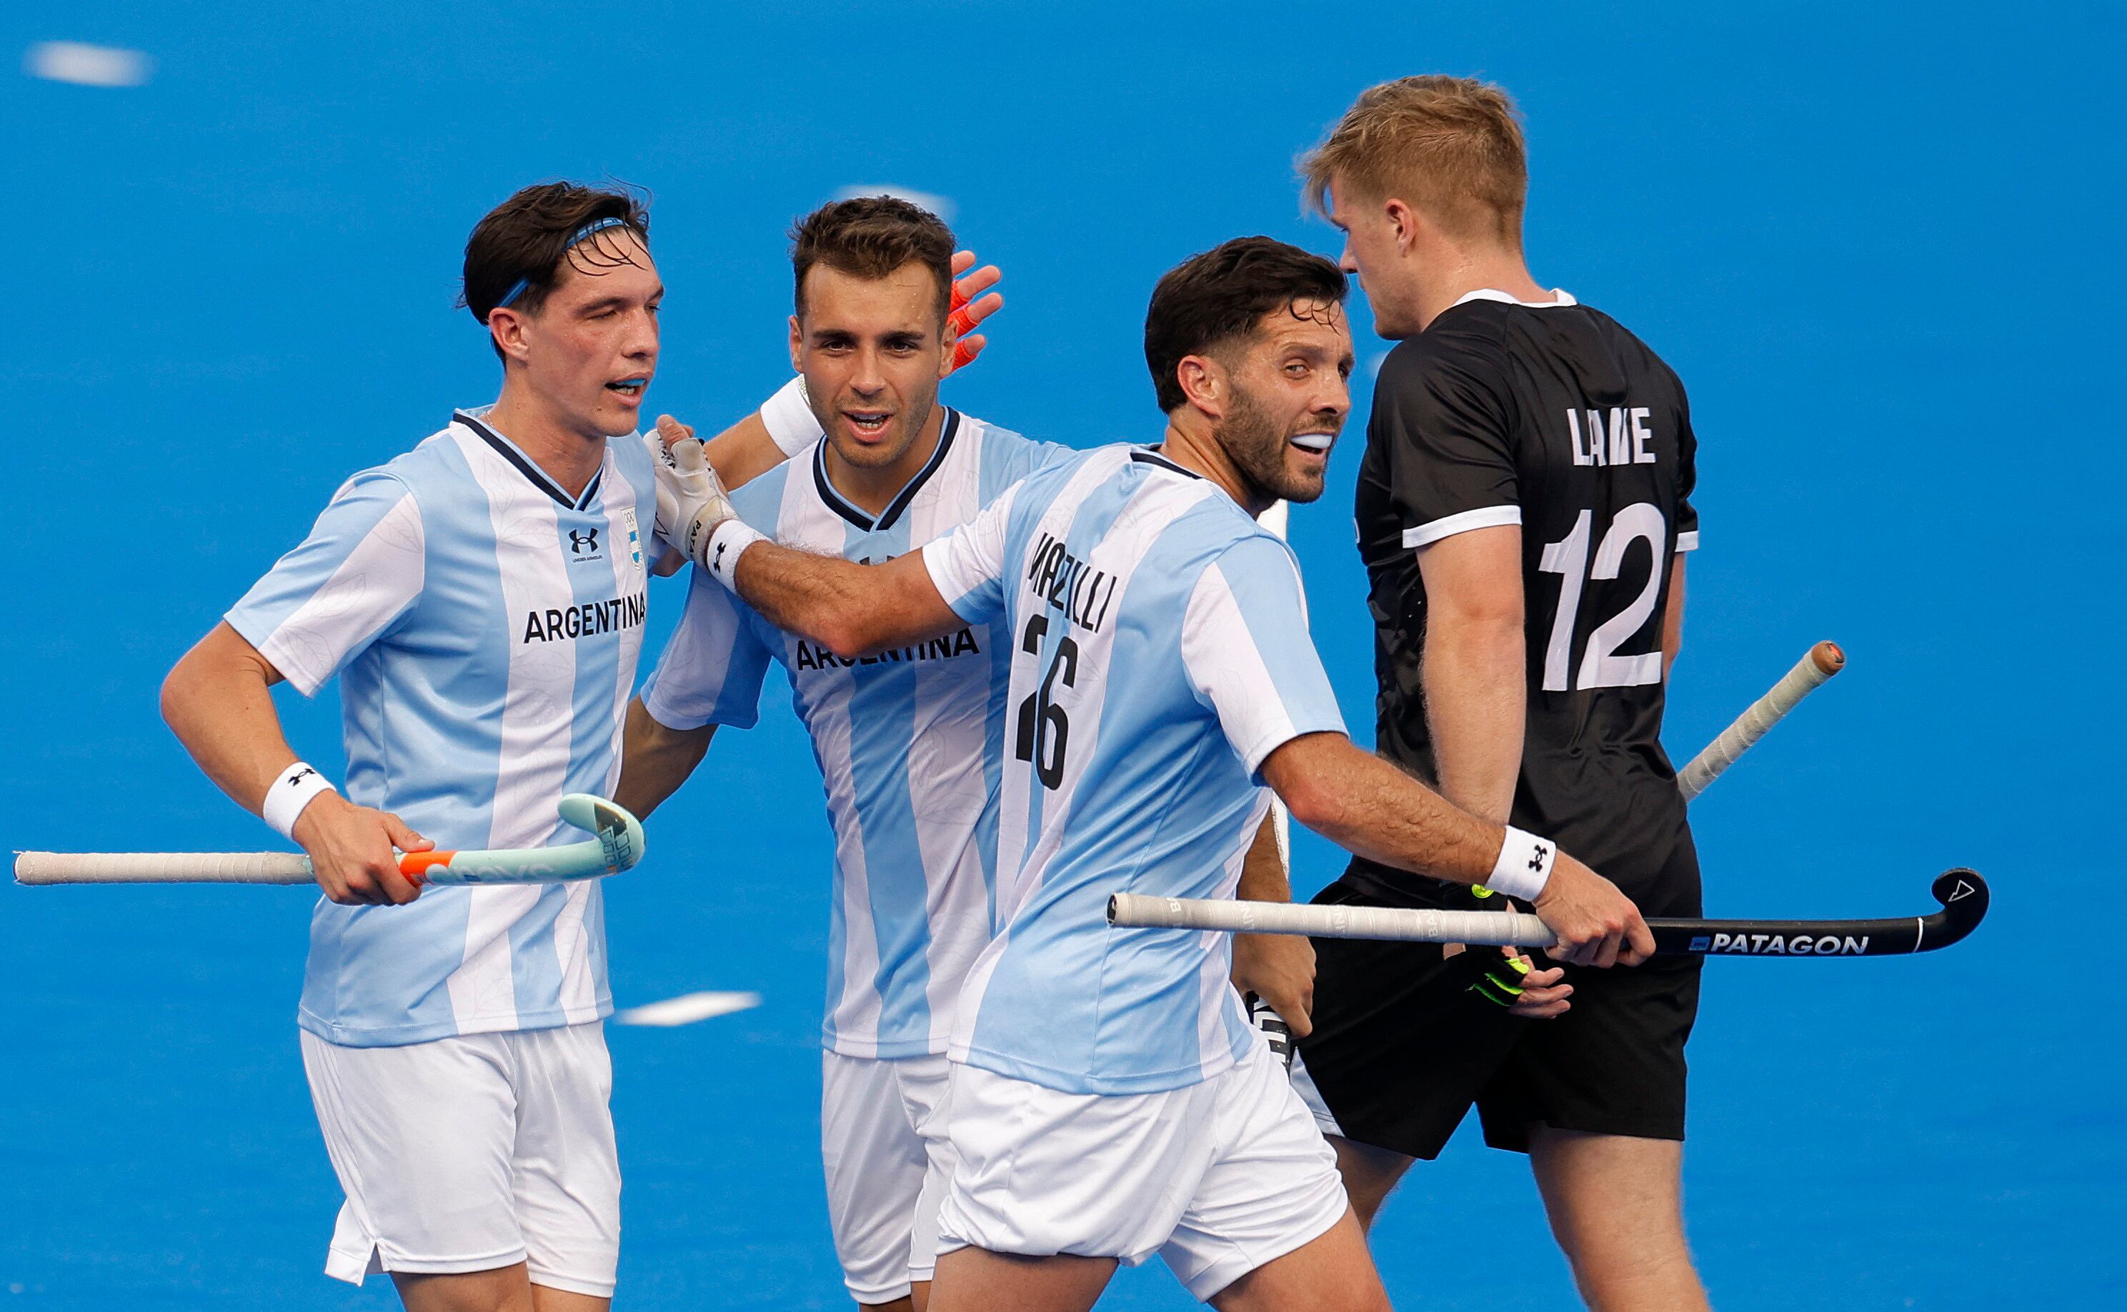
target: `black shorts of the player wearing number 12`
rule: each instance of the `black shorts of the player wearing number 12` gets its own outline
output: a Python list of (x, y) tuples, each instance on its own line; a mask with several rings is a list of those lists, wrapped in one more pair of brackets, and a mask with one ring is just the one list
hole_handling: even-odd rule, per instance
[[(1680, 868), (1689, 863), (1689, 868)], [(1697, 855), (1685, 838), (1661, 870), (1697, 902)], [(1497, 908), (1459, 885), (1346, 874), (1317, 897), (1332, 906)], [(1642, 908), (1642, 914), (1695, 914)], [(1685, 1138), (1685, 1040), (1699, 1012), (1699, 959), (1631, 968), (1568, 965), (1572, 1008), (1523, 1021), (1470, 991), (1487, 957), (1476, 946), (1314, 940), (1314, 1033), (1300, 1040), (1308, 1076), (1344, 1138), (1438, 1157), (1470, 1104), (1493, 1148), (1529, 1150), (1529, 1127)], [(1538, 968), (1551, 965), (1534, 953)]]

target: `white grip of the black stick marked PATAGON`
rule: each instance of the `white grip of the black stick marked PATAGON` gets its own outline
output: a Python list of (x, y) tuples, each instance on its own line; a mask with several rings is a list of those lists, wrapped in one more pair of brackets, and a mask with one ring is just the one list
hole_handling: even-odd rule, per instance
[(1219, 929), (1225, 933), (1306, 933), (1308, 938), (1387, 938), (1544, 948), (1551, 925), (1527, 912), (1431, 910), (1412, 906), (1310, 906), (1304, 902), (1229, 902), (1208, 897), (1108, 897), (1108, 923), (1127, 929)]

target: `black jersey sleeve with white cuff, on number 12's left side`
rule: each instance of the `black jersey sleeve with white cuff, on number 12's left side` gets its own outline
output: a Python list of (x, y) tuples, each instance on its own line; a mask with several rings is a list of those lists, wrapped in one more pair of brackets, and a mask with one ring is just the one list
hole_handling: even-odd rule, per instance
[(1455, 347), (1391, 353), (1370, 427), (1389, 453), (1404, 546), (1521, 523), (1510, 423), (1485, 361)]

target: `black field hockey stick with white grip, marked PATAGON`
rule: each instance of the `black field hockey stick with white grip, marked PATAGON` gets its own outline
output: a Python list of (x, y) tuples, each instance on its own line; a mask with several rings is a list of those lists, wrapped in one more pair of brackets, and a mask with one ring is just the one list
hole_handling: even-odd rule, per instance
[[(1987, 916), (1987, 880), (1972, 870), (1936, 878), (1942, 910), (1889, 921), (1668, 921), (1651, 919), (1657, 957), (1904, 957), (1959, 942)], [(1551, 925), (1527, 912), (1404, 906), (1310, 906), (1208, 897), (1108, 897), (1117, 929), (1217, 929), (1546, 948)]]

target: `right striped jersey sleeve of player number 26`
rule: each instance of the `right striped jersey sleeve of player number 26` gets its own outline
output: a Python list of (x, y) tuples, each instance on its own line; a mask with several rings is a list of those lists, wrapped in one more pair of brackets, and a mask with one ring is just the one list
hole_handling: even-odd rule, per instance
[(1183, 668), (1251, 776), (1302, 734), (1344, 731), (1308, 638), (1300, 566), (1274, 538), (1242, 538), (1198, 576), (1183, 615)]

